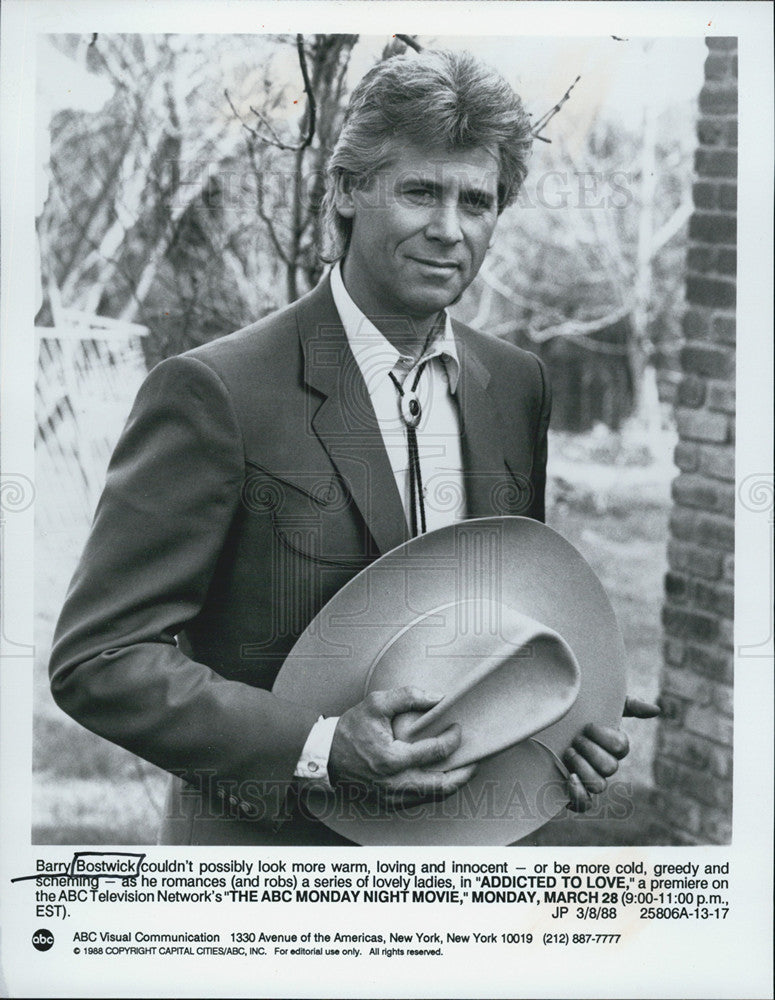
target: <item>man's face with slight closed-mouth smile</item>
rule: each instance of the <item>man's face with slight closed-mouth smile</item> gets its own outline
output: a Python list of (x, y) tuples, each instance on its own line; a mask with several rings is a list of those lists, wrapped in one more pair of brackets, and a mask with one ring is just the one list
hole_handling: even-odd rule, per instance
[(372, 318), (425, 318), (476, 277), (498, 219), (498, 163), (486, 149), (397, 143), (363, 190), (338, 195), (353, 220), (345, 284)]

